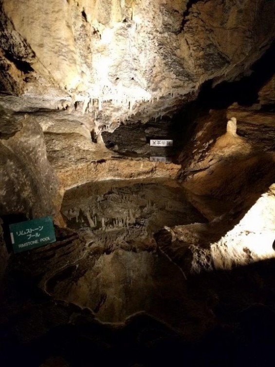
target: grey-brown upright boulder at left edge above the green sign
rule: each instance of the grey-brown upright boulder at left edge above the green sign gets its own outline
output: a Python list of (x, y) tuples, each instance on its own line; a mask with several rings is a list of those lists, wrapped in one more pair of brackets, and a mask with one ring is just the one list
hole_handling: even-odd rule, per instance
[(62, 196), (47, 159), (41, 127), (38, 123), (30, 123), (28, 115), (10, 115), (7, 119), (18, 119), (18, 131), (12, 131), (9, 126), (9, 131), (2, 135), (1, 129), (1, 215), (24, 214), (33, 218), (56, 214)]

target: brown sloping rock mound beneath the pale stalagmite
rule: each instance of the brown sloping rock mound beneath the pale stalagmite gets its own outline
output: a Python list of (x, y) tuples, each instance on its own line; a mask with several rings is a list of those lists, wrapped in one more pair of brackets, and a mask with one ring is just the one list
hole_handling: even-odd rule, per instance
[[(254, 115), (244, 109), (243, 114), (240, 120), (237, 117), (237, 131), (245, 137), (228, 131), (221, 135), (226, 131), (224, 112), (211, 112), (201, 119), (193, 138), (180, 156), (185, 188), (195, 194), (216, 198), (230, 195), (231, 200), (238, 201), (241, 194), (253, 192), (254, 186), (257, 191), (261, 185), (267, 189), (273, 183), (273, 135), (266, 131), (274, 133), (273, 128), (266, 129), (272, 120), (261, 120), (261, 124), (254, 125), (249, 122), (249, 114), (254, 116), (252, 119), (257, 119), (257, 113)], [(239, 116), (238, 110), (230, 108), (227, 116), (233, 115)], [(211, 129), (215, 129), (213, 135)]]

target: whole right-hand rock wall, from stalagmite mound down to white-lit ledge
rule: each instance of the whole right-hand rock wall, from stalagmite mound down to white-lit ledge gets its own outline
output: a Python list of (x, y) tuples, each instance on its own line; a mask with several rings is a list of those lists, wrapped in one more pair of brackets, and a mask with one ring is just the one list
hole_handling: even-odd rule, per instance
[(186, 274), (275, 256), (273, 79), (260, 89), (259, 103), (234, 103), (194, 121), (180, 177), (209, 223), (165, 227), (156, 236)]

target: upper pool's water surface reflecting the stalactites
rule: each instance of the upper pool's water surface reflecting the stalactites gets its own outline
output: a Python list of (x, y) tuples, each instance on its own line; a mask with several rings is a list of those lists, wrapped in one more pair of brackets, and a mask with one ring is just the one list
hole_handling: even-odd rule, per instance
[(144, 241), (164, 226), (204, 221), (183, 188), (164, 179), (86, 184), (65, 193), (61, 212), (69, 228), (107, 247)]

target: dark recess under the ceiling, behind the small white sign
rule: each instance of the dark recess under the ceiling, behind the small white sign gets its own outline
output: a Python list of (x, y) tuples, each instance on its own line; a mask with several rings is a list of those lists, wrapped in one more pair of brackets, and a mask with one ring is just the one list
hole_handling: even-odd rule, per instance
[[(128, 122), (121, 123), (113, 133), (102, 133), (105, 145), (119, 155), (140, 159), (162, 156), (177, 163), (180, 152), (188, 143), (188, 137), (192, 136), (198, 117), (208, 115), (211, 109), (225, 110), (236, 102), (245, 107), (257, 105), (260, 88), (274, 74), (275, 42), (238, 80), (223, 81), (214, 87), (215, 80), (204, 82), (197, 98), (184, 102), (182, 108), (174, 114), (150, 118), (146, 123), (137, 123), (129, 118)], [(273, 112), (274, 104), (259, 108)], [(150, 147), (149, 141), (153, 138), (172, 139), (173, 148)]]

